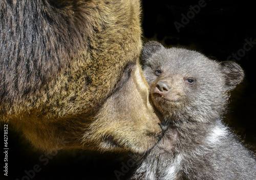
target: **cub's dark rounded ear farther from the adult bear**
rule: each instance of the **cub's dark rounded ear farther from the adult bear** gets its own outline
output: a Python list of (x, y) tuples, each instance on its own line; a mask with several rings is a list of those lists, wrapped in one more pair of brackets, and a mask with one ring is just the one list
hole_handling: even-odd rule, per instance
[(225, 77), (225, 88), (227, 90), (232, 90), (236, 88), (237, 84), (243, 81), (244, 71), (235, 62), (223, 61), (220, 63), (221, 72)]

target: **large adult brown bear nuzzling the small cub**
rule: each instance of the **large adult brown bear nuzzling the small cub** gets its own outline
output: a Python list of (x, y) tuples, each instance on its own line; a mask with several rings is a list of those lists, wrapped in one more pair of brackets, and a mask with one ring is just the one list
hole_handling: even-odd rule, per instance
[(139, 15), (138, 0), (2, 0), (1, 120), (47, 151), (153, 147)]

